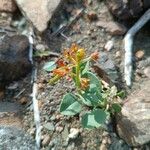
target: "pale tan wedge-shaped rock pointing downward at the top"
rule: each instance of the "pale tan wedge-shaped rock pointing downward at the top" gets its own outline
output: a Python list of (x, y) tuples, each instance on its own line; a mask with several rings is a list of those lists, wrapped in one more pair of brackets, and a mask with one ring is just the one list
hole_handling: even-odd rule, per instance
[(25, 17), (39, 31), (43, 32), (62, 0), (16, 0)]

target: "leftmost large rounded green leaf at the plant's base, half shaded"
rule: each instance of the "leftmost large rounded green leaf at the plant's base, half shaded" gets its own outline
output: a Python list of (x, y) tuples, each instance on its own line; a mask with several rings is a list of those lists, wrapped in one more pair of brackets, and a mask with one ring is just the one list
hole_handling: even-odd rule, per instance
[(67, 93), (63, 97), (63, 100), (61, 102), (60, 112), (63, 115), (72, 116), (72, 115), (79, 113), (81, 111), (81, 108), (82, 106), (78, 102), (78, 98), (71, 93)]

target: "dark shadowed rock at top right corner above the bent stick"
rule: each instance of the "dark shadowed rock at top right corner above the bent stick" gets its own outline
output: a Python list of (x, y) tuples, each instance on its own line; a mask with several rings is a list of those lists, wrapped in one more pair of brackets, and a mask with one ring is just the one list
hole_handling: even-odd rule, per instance
[(139, 17), (150, 8), (149, 0), (106, 0), (106, 3), (112, 14), (121, 20)]

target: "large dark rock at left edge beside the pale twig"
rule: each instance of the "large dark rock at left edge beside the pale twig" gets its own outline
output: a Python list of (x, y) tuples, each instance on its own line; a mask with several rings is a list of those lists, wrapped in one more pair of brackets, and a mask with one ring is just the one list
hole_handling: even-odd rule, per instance
[(29, 41), (24, 35), (5, 36), (0, 43), (0, 87), (24, 77), (32, 69)]

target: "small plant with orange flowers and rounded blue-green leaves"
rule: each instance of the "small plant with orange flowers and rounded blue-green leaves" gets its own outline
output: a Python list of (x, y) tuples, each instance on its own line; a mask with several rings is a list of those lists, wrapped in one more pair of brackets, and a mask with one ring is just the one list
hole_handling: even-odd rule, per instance
[[(60, 112), (63, 115), (76, 115), (82, 111), (83, 106), (88, 106), (90, 111), (84, 112), (81, 123), (85, 128), (98, 128), (105, 126), (110, 114), (121, 111), (121, 106), (115, 102), (117, 89), (115, 87), (103, 89), (101, 80), (90, 71), (90, 62), (96, 61), (98, 52), (86, 57), (85, 49), (72, 44), (63, 52), (63, 59), (57, 62), (48, 62), (44, 69), (53, 72), (50, 84), (66, 76), (75, 83), (76, 93), (64, 95)], [(84, 109), (85, 110), (85, 109)]]

